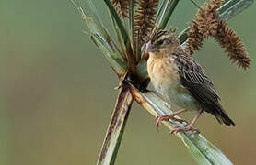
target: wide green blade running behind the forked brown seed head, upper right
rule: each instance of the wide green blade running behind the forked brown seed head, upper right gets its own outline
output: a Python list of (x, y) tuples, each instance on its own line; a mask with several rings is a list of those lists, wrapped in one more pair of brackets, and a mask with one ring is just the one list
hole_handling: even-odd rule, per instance
[[(254, 0), (229, 0), (227, 1), (223, 6), (219, 8), (220, 12), (220, 18), (224, 20), (229, 20), (232, 17), (237, 16), (239, 13), (247, 9), (253, 4)], [(181, 31), (179, 37), (180, 37), (180, 43), (183, 44), (187, 38), (187, 32), (189, 31), (189, 27), (185, 28), (183, 31)], [(182, 45), (182, 47), (185, 47), (185, 44)]]

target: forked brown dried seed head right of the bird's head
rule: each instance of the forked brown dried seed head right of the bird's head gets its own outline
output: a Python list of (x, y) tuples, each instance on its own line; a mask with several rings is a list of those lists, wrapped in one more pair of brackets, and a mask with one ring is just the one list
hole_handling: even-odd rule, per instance
[(212, 0), (198, 10), (188, 33), (186, 50), (192, 54), (194, 50), (201, 49), (205, 38), (212, 37), (226, 49), (230, 60), (237, 62), (239, 67), (247, 69), (251, 60), (241, 39), (232, 29), (227, 28), (226, 21), (221, 21), (219, 18), (217, 8), (223, 2), (223, 0)]

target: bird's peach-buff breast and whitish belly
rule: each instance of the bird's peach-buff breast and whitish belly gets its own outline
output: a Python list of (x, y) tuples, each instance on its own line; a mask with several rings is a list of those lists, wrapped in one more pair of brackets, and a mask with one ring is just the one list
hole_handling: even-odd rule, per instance
[(157, 60), (148, 61), (148, 74), (157, 91), (169, 104), (177, 104), (183, 109), (198, 111), (201, 106), (192, 97), (191, 93), (180, 84), (180, 77), (174, 67), (162, 66)]

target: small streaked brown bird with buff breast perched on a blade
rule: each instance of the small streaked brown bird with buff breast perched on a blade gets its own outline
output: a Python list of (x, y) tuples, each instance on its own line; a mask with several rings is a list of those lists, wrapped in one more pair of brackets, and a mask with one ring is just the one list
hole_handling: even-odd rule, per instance
[(213, 82), (204, 73), (200, 64), (180, 46), (180, 39), (173, 30), (157, 30), (145, 45), (147, 54), (147, 72), (155, 90), (170, 104), (182, 109), (171, 115), (157, 116), (157, 126), (169, 119), (186, 122), (176, 115), (192, 111), (196, 115), (191, 124), (176, 126), (171, 133), (192, 131), (199, 116), (214, 115), (220, 124), (235, 126), (220, 104), (220, 97)]

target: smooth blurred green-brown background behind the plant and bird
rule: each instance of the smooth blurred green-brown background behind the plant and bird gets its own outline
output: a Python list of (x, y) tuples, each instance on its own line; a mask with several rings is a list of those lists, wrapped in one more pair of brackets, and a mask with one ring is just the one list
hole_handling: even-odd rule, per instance
[[(87, 7), (85, 0), (81, 4)], [(101, 14), (107, 13), (103, 1), (96, 4)], [(191, 2), (181, 1), (170, 25), (182, 30), (195, 11)], [(228, 21), (252, 59), (255, 15), (253, 5)], [(104, 20), (110, 27), (107, 15)], [(83, 30), (68, 0), (0, 1), (0, 164), (96, 163), (118, 80)], [(196, 58), (237, 124), (220, 126), (209, 115), (197, 126), (235, 164), (254, 164), (255, 62), (248, 71), (238, 69), (212, 39)], [(155, 119), (134, 104), (116, 164), (196, 163), (177, 137), (164, 127), (157, 132)]]

